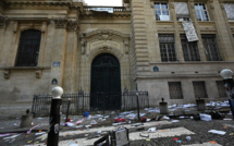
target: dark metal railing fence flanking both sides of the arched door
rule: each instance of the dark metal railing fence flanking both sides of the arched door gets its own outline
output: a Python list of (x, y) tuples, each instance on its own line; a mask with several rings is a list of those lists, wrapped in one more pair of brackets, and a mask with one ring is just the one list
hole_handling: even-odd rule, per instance
[[(122, 110), (136, 110), (137, 109), (137, 96), (136, 90), (124, 90), (122, 93), (121, 98), (121, 109)], [(52, 96), (48, 94), (39, 94), (34, 95), (32, 112), (35, 117), (38, 115), (49, 115), (50, 113), (50, 106), (51, 106)], [(63, 94), (62, 95), (62, 107), (61, 111), (63, 114), (66, 113), (67, 104), (70, 104), (69, 114), (83, 114), (84, 111), (94, 111), (90, 107), (90, 94), (85, 93), (83, 90), (74, 94)], [(139, 100), (139, 108), (148, 108), (149, 107), (149, 98), (148, 92), (138, 92), (138, 100)], [(101, 105), (100, 105), (101, 106)], [(102, 109), (102, 107), (97, 108)], [(97, 110), (96, 109), (96, 110)]]

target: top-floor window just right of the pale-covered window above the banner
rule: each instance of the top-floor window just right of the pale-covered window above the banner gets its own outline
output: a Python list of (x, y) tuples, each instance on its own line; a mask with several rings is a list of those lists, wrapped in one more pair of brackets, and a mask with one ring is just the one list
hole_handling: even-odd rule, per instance
[(209, 21), (208, 10), (205, 3), (195, 3), (197, 21)]

